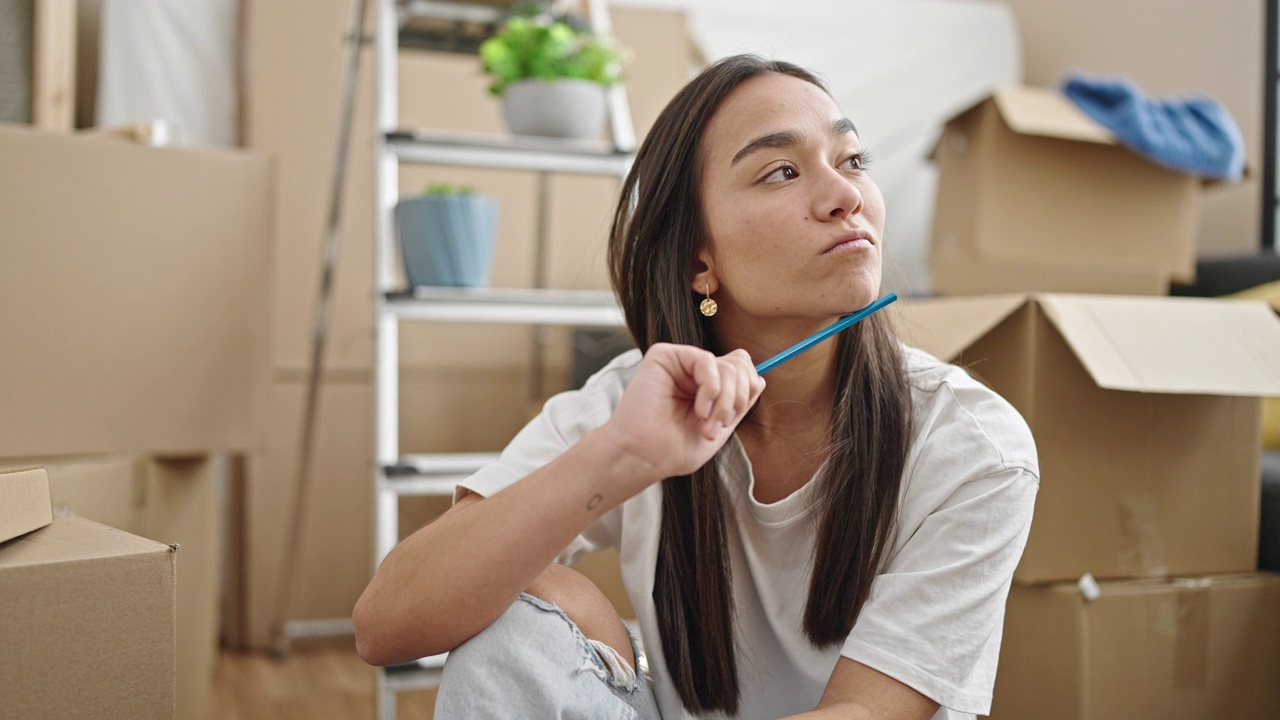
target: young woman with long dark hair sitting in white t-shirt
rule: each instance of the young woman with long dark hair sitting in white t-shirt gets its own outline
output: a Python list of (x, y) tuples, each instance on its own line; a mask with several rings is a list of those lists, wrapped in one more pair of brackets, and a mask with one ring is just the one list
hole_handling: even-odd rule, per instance
[[(867, 163), (795, 65), (735, 56), (690, 82), (613, 223), (639, 350), (553, 397), (387, 557), (361, 656), (452, 651), (442, 719), (986, 714), (1038, 487), (1027, 424), (883, 313), (768, 383), (753, 369), (878, 296)], [(648, 676), (563, 565), (607, 546)]]

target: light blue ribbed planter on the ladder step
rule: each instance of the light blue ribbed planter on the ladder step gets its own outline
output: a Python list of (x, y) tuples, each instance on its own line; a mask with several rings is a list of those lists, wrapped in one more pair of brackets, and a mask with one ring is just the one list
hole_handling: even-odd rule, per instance
[(411, 287), (489, 287), (498, 201), (485, 195), (406, 197), (396, 205)]

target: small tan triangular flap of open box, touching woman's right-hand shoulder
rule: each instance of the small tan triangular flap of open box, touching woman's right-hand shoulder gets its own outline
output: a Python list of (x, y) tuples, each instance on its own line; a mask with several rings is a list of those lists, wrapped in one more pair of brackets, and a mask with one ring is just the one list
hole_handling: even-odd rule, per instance
[(932, 297), (899, 302), (890, 318), (902, 342), (952, 360), (1025, 302), (1025, 295)]

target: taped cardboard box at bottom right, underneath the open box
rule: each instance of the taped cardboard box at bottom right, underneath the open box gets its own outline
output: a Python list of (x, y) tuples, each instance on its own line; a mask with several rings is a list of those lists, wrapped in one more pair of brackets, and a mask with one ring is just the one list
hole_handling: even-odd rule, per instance
[(992, 720), (1274, 720), (1280, 575), (1014, 585)]

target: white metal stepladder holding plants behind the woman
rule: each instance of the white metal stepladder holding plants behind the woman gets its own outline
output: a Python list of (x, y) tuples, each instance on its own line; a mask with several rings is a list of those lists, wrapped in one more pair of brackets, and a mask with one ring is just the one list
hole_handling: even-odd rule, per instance
[[(604, 0), (586, 0), (593, 27), (611, 32)], [(548, 178), (577, 173), (622, 178), (631, 167), (635, 133), (627, 97), (621, 86), (609, 91), (612, 142), (556, 141), (502, 137), (399, 127), (397, 58), (404, 50), (474, 53), (479, 41), (500, 20), (500, 9), (468, 3), (434, 0), (378, 0), (376, 29), (376, 137), (374, 158), (376, 204), (374, 213), (374, 287), (376, 340), (374, 361), (375, 562), (381, 562), (399, 538), (398, 507), (402, 497), (452, 496), (460, 480), (475, 473), (495, 454), (401, 455), (399, 433), (399, 324), (403, 322), (500, 323), (527, 325), (620, 327), (622, 313), (612, 293), (549, 290), (547, 284), (545, 214)], [(407, 291), (397, 273), (393, 211), (399, 199), (399, 165), (422, 163), (474, 168), (516, 169), (539, 173), (536, 288), (465, 290), (415, 288)], [(430, 689), (439, 684), (444, 656), (379, 671), (378, 717), (396, 717), (399, 692)]]

